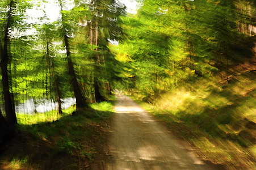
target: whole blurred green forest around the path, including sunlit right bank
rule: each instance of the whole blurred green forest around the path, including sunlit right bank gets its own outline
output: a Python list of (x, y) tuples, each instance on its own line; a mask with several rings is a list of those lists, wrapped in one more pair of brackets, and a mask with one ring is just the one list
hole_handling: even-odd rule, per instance
[(255, 161), (255, 1), (130, 3), (0, 0), (0, 145), (123, 91)]

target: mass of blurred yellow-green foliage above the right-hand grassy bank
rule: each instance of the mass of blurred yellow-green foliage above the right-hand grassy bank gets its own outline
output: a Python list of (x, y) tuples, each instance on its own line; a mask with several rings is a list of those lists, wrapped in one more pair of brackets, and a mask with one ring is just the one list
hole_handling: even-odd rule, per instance
[(240, 15), (237, 4), (244, 3), (145, 1), (138, 14), (122, 17), (127, 41), (111, 52), (121, 62), (118, 76), (125, 89), (154, 103), (179, 86), (192, 90), (201, 78), (236, 74), (225, 68), (254, 55), (253, 38), (237, 31), (238, 20), (251, 18)]

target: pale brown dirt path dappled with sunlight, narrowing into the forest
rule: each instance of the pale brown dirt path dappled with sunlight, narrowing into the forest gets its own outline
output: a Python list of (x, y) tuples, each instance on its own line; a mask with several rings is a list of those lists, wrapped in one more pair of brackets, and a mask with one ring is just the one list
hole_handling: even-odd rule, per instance
[(104, 169), (216, 169), (130, 97), (117, 95)]

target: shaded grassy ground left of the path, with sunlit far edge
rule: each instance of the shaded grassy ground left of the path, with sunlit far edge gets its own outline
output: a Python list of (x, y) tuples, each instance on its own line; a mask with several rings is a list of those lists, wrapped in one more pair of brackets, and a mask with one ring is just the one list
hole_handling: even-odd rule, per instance
[(67, 109), (58, 120), (48, 113), (18, 115), (15, 137), (0, 148), (0, 169), (90, 169), (104, 154), (113, 102), (73, 111)]

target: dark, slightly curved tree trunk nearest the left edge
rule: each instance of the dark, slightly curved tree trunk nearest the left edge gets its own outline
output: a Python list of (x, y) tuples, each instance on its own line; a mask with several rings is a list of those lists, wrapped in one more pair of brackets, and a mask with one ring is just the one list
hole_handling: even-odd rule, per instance
[[(10, 7), (12, 7), (13, 1), (10, 2)], [(1, 70), (2, 70), (2, 83), (3, 83), (3, 97), (5, 99), (5, 111), (7, 122), (10, 126), (17, 124), (14, 101), (11, 98), (10, 85), (9, 85), (9, 74), (8, 74), (8, 64), (10, 56), (8, 54), (8, 28), (10, 27), (11, 15), (9, 10), (9, 17), (7, 20), (7, 25), (5, 29), (5, 37), (3, 40), (3, 47), (0, 45), (0, 55), (1, 55)]]

